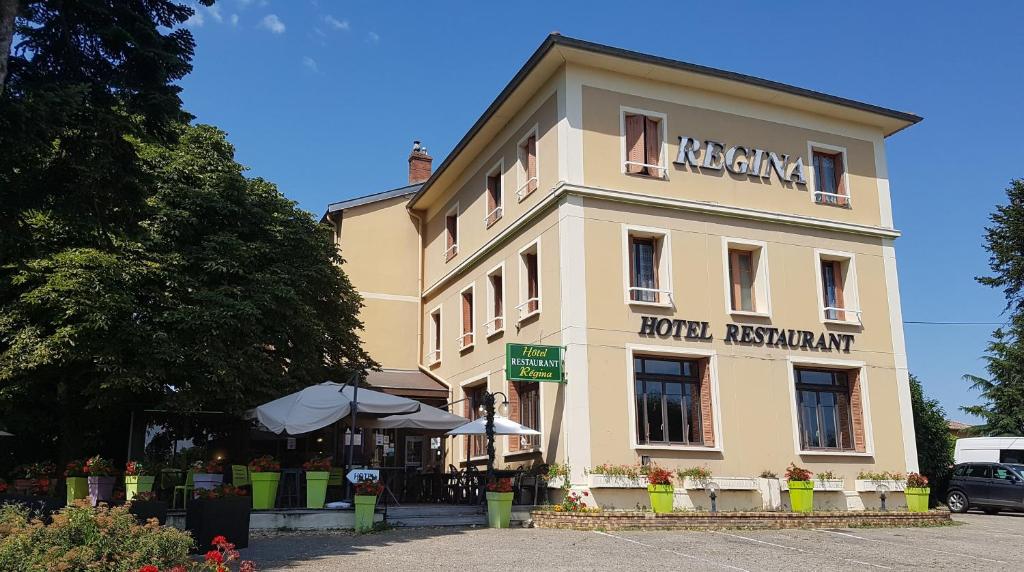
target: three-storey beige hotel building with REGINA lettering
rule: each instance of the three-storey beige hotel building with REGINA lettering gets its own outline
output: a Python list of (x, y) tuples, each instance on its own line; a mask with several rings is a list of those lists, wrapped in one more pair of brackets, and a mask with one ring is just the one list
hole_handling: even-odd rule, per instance
[[(592, 470), (742, 489), (796, 463), (858, 508), (858, 474), (918, 469), (885, 139), (919, 121), (553, 35), (436, 170), (417, 146), (410, 186), (327, 218), (370, 353), (541, 432), (499, 465), (567, 464), (632, 507)], [(506, 381), (508, 343), (563, 347), (566, 383)]]

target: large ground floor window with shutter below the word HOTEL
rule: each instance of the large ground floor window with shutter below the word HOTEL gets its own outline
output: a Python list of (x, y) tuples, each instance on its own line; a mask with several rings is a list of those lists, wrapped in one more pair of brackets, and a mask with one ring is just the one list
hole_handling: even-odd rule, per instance
[(638, 444), (706, 444), (711, 396), (702, 361), (634, 358)]

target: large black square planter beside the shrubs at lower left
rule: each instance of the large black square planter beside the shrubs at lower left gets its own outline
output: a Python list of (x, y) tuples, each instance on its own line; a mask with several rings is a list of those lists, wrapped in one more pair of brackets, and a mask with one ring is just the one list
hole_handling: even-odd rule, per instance
[(218, 485), (196, 489), (196, 498), (185, 509), (185, 530), (193, 533), (196, 547), (209, 546), (216, 536), (233, 538), (236, 545), (249, 545), (249, 515), (252, 500), (246, 489), (233, 485)]

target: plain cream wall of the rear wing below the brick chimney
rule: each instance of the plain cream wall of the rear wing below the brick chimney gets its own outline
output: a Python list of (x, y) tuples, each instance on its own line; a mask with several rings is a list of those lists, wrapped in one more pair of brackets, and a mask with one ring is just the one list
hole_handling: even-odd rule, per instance
[(419, 233), (399, 196), (343, 211), (335, 229), (342, 268), (362, 296), (360, 338), (382, 367), (415, 369), (419, 327)]

